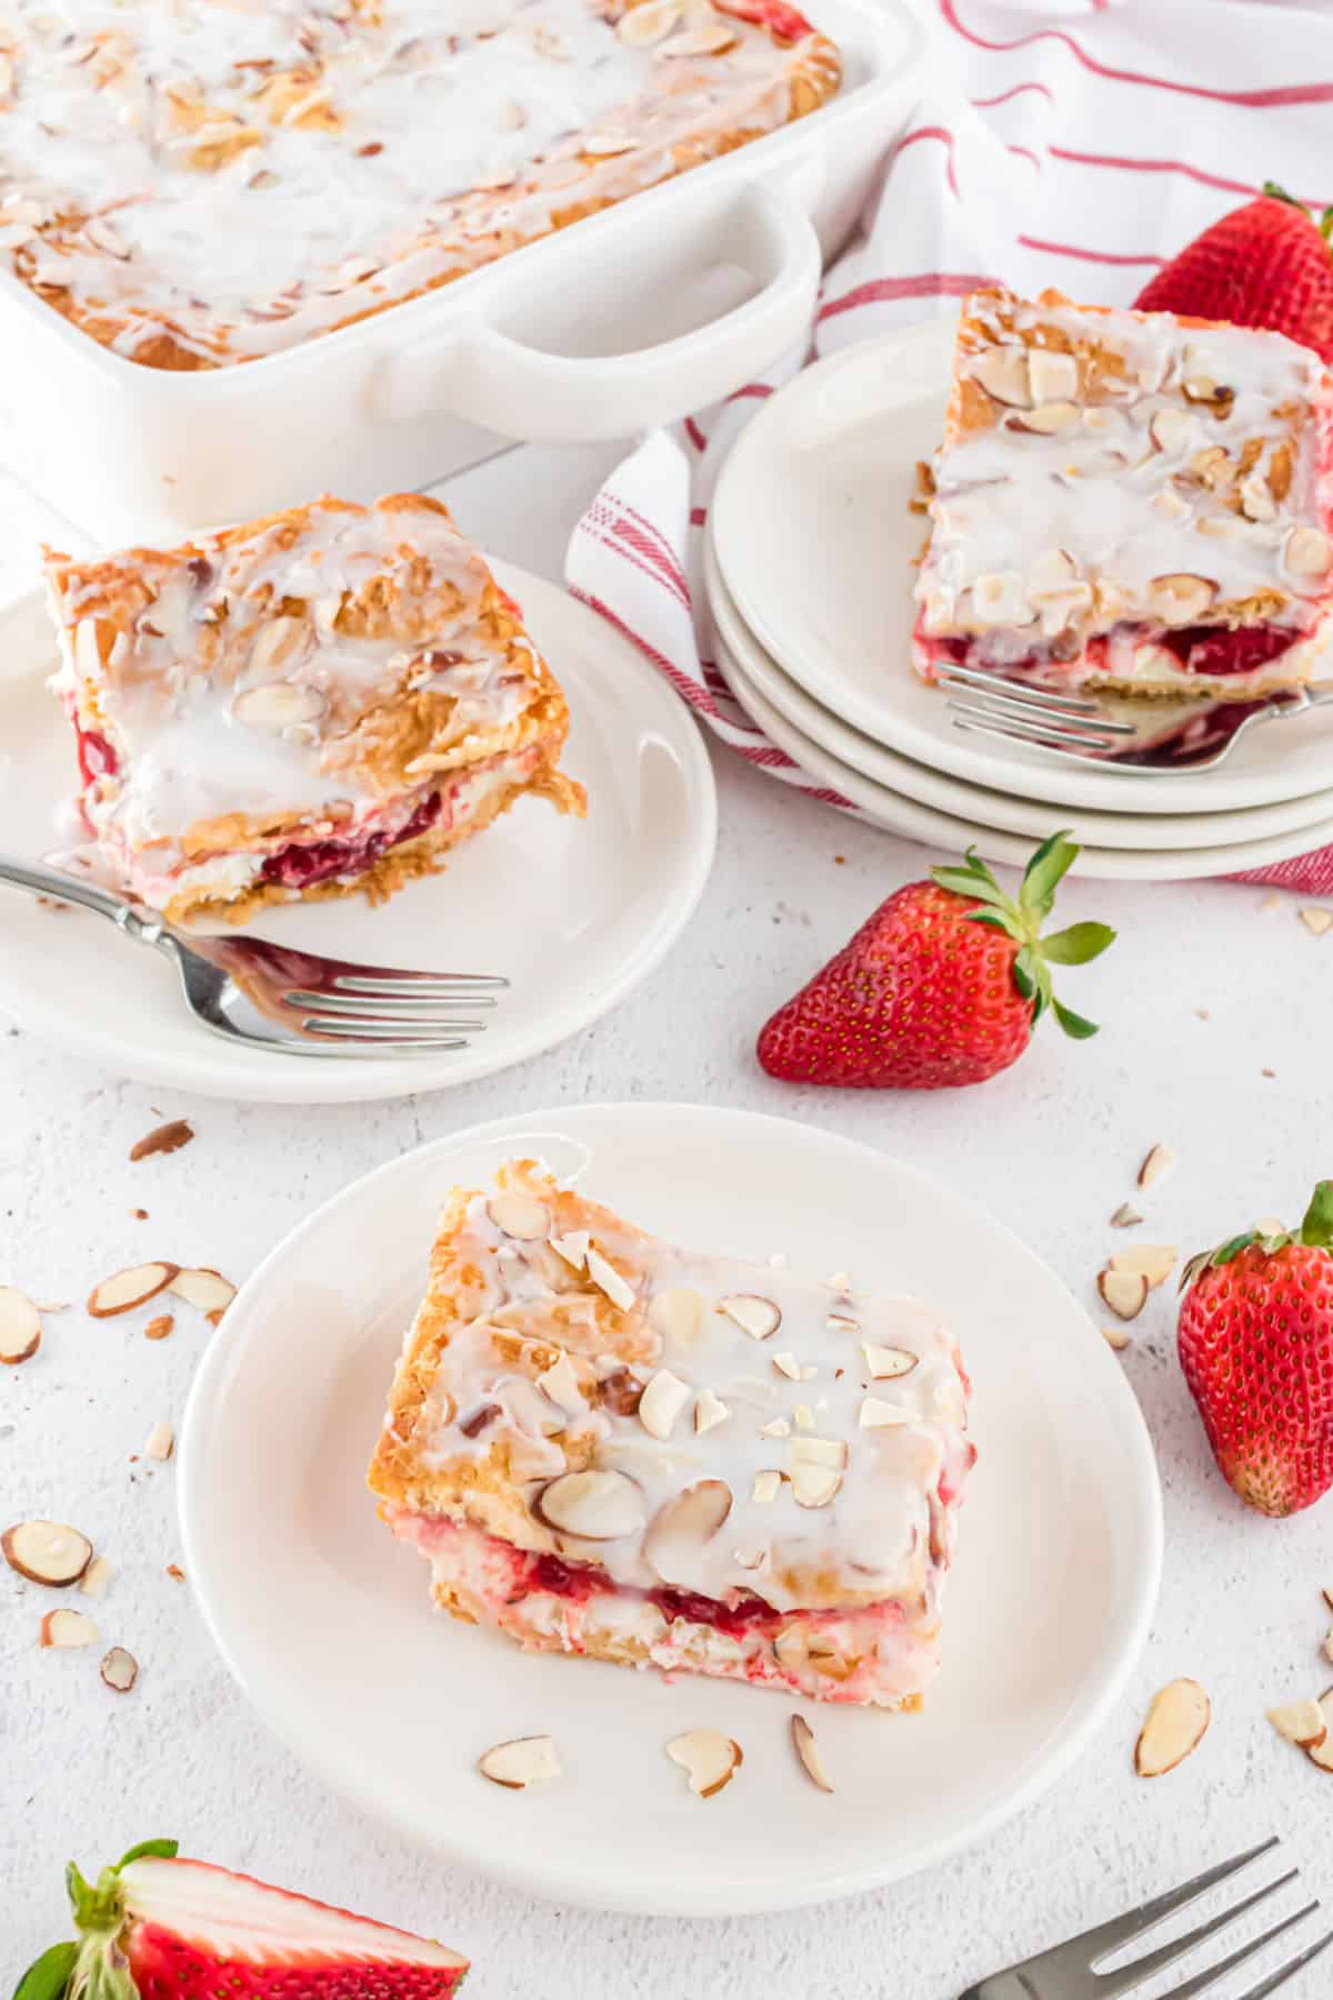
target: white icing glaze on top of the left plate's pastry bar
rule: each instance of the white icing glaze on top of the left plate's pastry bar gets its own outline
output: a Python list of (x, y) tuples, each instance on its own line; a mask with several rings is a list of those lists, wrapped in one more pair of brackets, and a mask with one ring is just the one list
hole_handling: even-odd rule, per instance
[[(190, 828), (230, 814), (258, 822), (254, 832), (266, 820), (314, 816), (306, 832), (316, 838), (384, 826), (386, 804), (406, 822), (432, 790), (432, 772), (412, 774), (408, 784), (392, 772), (386, 802), (386, 778), (348, 754), (348, 730), (378, 704), (388, 726), (394, 702), (410, 690), (454, 694), (448, 730), (438, 732), (432, 752), (466, 762), (480, 732), (512, 724), (534, 696), (528, 672), (516, 674), (476, 628), (486, 564), (432, 508), (316, 506), (294, 540), (280, 522), (228, 542), (204, 536), (194, 546), (200, 556), (192, 564), (130, 550), (96, 564), (82, 586), (52, 584), (62, 654), (52, 686), (84, 730), (110, 742), (120, 764), (84, 788), (84, 812), (120, 854), (152, 848), (156, 878), (178, 868)], [(106, 632), (98, 644), (96, 624), (110, 630), (118, 586), (140, 578), (156, 596), (136, 614), (132, 634), (122, 632), (102, 658)], [(340, 604), (376, 578), (396, 592), (394, 636), (338, 632)], [(424, 640), (408, 640), (406, 632), (422, 628), (426, 594), (448, 608), (430, 620)], [(280, 612), (292, 600), (302, 610)], [(94, 620), (98, 610), (104, 616)], [(280, 650), (270, 644), (276, 628)], [(520, 656), (532, 658), (526, 640)], [(308, 694), (320, 714), (284, 728), (250, 720), (240, 696), (274, 686)], [(358, 758), (370, 750), (374, 740), (362, 734)]]

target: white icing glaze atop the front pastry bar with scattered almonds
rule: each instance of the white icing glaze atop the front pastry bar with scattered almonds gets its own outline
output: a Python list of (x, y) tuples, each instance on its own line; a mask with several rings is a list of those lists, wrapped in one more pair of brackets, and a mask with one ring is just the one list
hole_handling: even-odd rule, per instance
[[(590, 1280), (572, 1272), (546, 1240), (504, 1236), (486, 1196), (478, 1196), (468, 1208), (462, 1244), (468, 1262), (484, 1272), (486, 1300), (476, 1318), (452, 1328), (428, 1398), (434, 1422), (428, 1418), (426, 1438), (418, 1432), (422, 1462), (436, 1468), (480, 1464), (500, 1438), (516, 1440), (530, 1476), (532, 1508), (546, 1482), (566, 1470), (562, 1436), (568, 1428), (570, 1436), (592, 1440), (596, 1468), (624, 1472), (636, 1482), (644, 1528), (596, 1542), (562, 1532), (556, 1550), (574, 1562), (600, 1564), (622, 1586), (669, 1584), (719, 1600), (753, 1592), (777, 1610), (847, 1598), (903, 1598), (933, 1608), (949, 1560), (957, 1494), (971, 1464), (963, 1382), (939, 1314), (917, 1300), (839, 1294), (827, 1284), (735, 1258), (697, 1256), (667, 1244), (646, 1248), (630, 1230), (622, 1236), (602, 1228), (594, 1242), (622, 1274), (638, 1272), (632, 1326), (640, 1336), (658, 1330), (656, 1340), (650, 1334), (652, 1360), (630, 1372), (646, 1384), (658, 1370), (669, 1370), (689, 1388), (669, 1436), (658, 1440), (638, 1414), (618, 1414), (608, 1402), (590, 1408), (580, 1398), (578, 1410), (556, 1410), (522, 1368), (498, 1362), (494, 1332), (510, 1326), (550, 1342), (574, 1342), (580, 1330), (580, 1352), (602, 1376), (622, 1368), (616, 1356), (586, 1352), (598, 1332), (598, 1292)], [(662, 1332), (666, 1320), (654, 1300), (681, 1288), (697, 1294), (697, 1310), (683, 1312)], [(735, 1294), (761, 1296), (781, 1310), (781, 1326), (769, 1340), (751, 1338), (717, 1310), (719, 1300)], [(829, 1324), (831, 1316), (855, 1320), (855, 1326)], [(863, 1342), (907, 1350), (919, 1356), (917, 1366), (893, 1382), (875, 1382)], [(777, 1352), (791, 1356), (797, 1380), (773, 1366)], [(705, 1390), (727, 1406), (727, 1416), (697, 1434), (691, 1406)], [(891, 1400), (903, 1420), (863, 1428), (859, 1412), (867, 1396)], [(478, 1424), (478, 1412), (488, 1406), (498, 1406), (500, 1414)], [(797, 1420), (797, 1408), (807, 1412), (807, 1424)], [(775, 1418), (791, 1424), (787, 1436), (763, 1434)], [(827, 1504), (797, 1504), (789, 1474), (799, 1458), (845, 1460)], [(767, 1504), (755, 1500), (755, 1476), (765, 1472), (781, 1474)], [(941, 1478), (945, 1500), (939, 1498)], [(729, 1488), (725, 1520), (707, 1540), (671, 1536), (666, 1548), (660, 1546), (664, 1538), (654, 1538), (652, 1524), (667, 1502), (699, 1480), (723, 1480)], [(550, 1548), (540, 1514), (534, 1520), (530, 1546)], [(763, 1552), (757, 1566), (739, 1560), (755, 1552)]]

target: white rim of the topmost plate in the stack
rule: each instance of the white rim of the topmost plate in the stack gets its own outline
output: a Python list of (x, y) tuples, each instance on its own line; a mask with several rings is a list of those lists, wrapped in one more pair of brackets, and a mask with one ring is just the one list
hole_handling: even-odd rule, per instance
[[(845, 368), (873, 366), (877, 356), (891, 356), (903, 346), (929, 348), (935, 344), (945, 350), (945, 342), (951, 344), (955, 320), (957, 312), (949, 310), (925, 320), (911, 320), (909, 324), (881, 334), (871, 334), (851, 346), (835, 348), (831, 354), (825, 354), (807, 368), (801, 368), (795, 376), (791, 376), (791, 380), (775, 388), (735, 438), (717, 472), (717, 484), (713, 488), (707, 514), (707, 534), (713, 542), (717, 566), (727, 592), (755, 638), (759, 638), (763, 648), (773, 656), (783, 672), (789, 674), (791, 680), (795, 680), (823, 708), (839, 714), (851, 728), (859, 728), (863, 736), (883, 742), (887, 750), (907, 756), (915, 764), (923, 764), (929, 770), (939, 768), (941, 772), (977, 784), (983, 790), (997, 790), (997, 782), (1005, 782), (1009, 790), (1021, 792), (1027, 798), (1065, 808), (1087, 806), (1091, 810), (1117, 810), (1111, 800), (1119, 794), (1123, 800), (1119, 810), (1137, 810), (1147, 814), (1189, 810), (1179, 804), (1181, 792), (1177, 792), (1177, 788), (1207, 786), (1213, 796), (1221, 794), (1229, 800), (1225, 808), (1217, 810), (1245, 810), (1247, 806), (1283, 804), (1287, 800), (1309, 796), (1309, 792), (1325, 790), (1327, 786), (1317, 780), (1311, 780), (1309, 792), (1305, 784), (1297, 784), (1295, 790), (1291, 790), (1289, 786), (1277, 782), (1273, 772), (1269, 772), (1267, 782), (1255, 774), (1247, 786), (1245, 780), (1235, 774), (1227, 774), (1225, 768), (1211, 776), (1203, 772), (1193, 776), (1177, 772), (1145, 778), (1129, 770), (1081, 770), (1077, 766), (1069, 766), (1069, 770), (1065, 770), (1065, 766), (1055, 758), (1051, 758), (1049, 764), (1037, 758), (1015, 758), (1009, 762), (1003, 758), (1001, 750), (975, 750), (961, 738), (961, 732), (957, 744), (945, 736), (927, 736), (911, 720), (901, 720), (893, 706), (875, 708), (875, 704), (861, 698), (855, 688), (833, 684), (825, 668), (819, 662), (801, 658), (785, 630), (767, 618), (759, 578), (747, 578), (747, 570), (753, 566), (737, 560), (737, 544), (743, 546), (739, 528), (743, 520), (749, 518), (749, 510), (743, 506), (743, 498), (737, 500), (737, 494), (745, 480), (749, 462), (757, 460), (761, 466), (767, 440), (771, 436), (781, 438), (783, 432), (799, 428), (801, 406), (811, 398), (817, 398), (823, 384), (829, 382), (833, 374)], [(945, 382), (941, 382), (941, 388), (943, 386)], [(773, 492), (793, 482), (789, 478), (769, 478), (763, 484), (765, 490)], [(735, 534), (731, 524), (735, 524)], [(905, 664), (901, 670), (909, 672)], [(1079, 778), (1083, 784), (1079, 784)], [(1183, 796), (1197, 798), (1199, 790), (1185, 790)], [(1171, 802), (1173, 798), (1177, 800), (1175, 804)]]

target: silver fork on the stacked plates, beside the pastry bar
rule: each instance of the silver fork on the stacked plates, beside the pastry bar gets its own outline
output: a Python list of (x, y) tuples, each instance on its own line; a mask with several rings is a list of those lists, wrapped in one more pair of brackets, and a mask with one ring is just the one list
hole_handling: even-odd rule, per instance
[(947, 664), (937, 670), (959, 730), (1029, 744), (1053, 756), (1093, 758), (1109, 770), (1215, 770), (1261, 722), (1289, 722), (1333, 702), (1333, 688), (1283, 688), (1261, 702), (1133, 702), (1059, 694), (1003, 674)]

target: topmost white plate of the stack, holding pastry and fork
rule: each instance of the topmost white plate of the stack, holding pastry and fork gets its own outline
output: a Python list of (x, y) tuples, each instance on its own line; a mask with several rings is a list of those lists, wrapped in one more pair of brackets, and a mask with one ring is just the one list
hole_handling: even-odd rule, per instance
[(965, 736), (911, 670), (915, 464), (943, 432), (953, 318), (863, 340), (769, 396), (721, 468), (717, 562), (755, 638), (835, 716), (971, 784), (1107, 812), (1215, 812), (1321, 792), (1333, 710), (1251, 730), (1213, 772), (1075, 764)]

